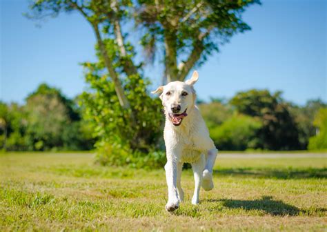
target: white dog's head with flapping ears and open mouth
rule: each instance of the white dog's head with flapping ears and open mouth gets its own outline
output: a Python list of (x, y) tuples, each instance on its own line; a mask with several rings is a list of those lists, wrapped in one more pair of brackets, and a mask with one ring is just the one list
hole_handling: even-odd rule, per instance
[(160, 93), (160, 99), (165, 108), (165, 113), (174, 124), (179, 126), (184, 117), (188, 115), (188, 110), (192, 110), (195, 105), (195, 90), (193, 85), (197, 82), (199, 75), (194, 71), (191, 79), (185, 82), (173, 81), (166, 86), (159, 86), (152, 93)]

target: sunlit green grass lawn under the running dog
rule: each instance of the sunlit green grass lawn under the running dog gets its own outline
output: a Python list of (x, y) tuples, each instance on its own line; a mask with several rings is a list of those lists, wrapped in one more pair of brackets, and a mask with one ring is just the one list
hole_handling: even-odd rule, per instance
[(165, 211), (164, 168), (97, 166), (87, 153), (0, 155), (0, 231), (326, 231), (326, 157), (218, 157), (215, 189)]

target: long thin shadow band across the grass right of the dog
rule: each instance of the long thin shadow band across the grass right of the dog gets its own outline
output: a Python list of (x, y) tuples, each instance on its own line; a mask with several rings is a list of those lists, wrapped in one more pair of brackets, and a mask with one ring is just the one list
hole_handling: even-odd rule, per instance
[(276, 179), (327, 178), (327, 168), (223, 168), (214, 171), (217, 175), (250, 176)]

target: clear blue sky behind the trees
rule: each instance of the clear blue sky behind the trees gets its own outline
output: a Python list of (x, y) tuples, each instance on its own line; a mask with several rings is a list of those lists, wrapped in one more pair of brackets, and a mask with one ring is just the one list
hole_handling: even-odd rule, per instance
[[(86, 84), (79, 62), (95, 61), (95, 37), (77, 13), (47, 19), (41, 28), (22, 16), (28, 1), (0, 0), (0, 99), (23, 99), (46, 82), (68, 97)], [(296, 104), (326, 94), (327, 1), (262, 1), (244, 13), (252, 30), (235, 35), (221, 52), (198, 68), (201, 99), (232, 97), (250, 88), (282, 90)], [(161, 68), (148, 66), (153, 86)]]

